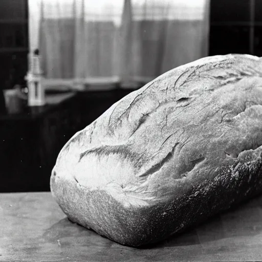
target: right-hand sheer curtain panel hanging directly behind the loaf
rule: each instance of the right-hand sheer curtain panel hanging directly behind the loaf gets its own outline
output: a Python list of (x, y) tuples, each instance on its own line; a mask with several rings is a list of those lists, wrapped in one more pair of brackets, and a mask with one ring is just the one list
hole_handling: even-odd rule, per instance
[(156, 76), (208, 54), (209, 0), (125, 1), (123, 85)]

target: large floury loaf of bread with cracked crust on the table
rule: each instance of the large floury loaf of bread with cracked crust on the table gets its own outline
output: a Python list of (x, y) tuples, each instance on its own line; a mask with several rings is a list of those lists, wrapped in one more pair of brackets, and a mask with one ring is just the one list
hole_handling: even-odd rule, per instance
[(52, 194), (122, 245), (159, 242), (262, 192), (262, 58), (212, 56), (112, 105), (62, 148)]

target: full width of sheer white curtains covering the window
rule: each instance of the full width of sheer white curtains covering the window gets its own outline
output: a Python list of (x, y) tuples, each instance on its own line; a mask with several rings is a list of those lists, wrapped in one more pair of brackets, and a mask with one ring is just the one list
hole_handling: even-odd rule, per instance
[(29, 0), (30, 50), (47, 88), (136, 87), (206, 56), (208, 17), (209, 0)]

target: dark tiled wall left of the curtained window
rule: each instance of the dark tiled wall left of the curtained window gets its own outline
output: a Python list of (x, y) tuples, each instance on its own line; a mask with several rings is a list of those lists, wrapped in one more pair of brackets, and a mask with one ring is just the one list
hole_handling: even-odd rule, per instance
[(25, 85), (28, 54), (27, 0), (0, 1), (0, 89)]

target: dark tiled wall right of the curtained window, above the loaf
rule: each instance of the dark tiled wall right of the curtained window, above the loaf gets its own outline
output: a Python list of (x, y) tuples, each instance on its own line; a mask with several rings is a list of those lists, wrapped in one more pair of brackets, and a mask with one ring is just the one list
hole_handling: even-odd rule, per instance
[(261, 22), (261, 0), (211, 0), (209, 54), (261, 56)]

